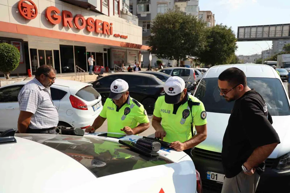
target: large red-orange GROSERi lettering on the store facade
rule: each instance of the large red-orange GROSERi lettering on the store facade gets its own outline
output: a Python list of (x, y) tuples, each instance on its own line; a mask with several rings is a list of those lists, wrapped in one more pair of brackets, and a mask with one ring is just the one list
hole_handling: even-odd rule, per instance
[[(60, 13), (61, 15), (58, 15)], [(46, 8), (45, 16), (47, 20), (54, 25), (60, 24), (62, 21), (64, 27), (69, 26), (70, 28), (73, 28), (73, 26), (75, 26), (79, 30), (86, 28), (89, 32), (95, 31), (96, 33), (113, 35), (113, 23), (109, 24), (108, 22), (99, 19), (94, 20), (91, 17), (85, 19), (81, 14), (77, 14), (73, 17), (73, 14), (70, 11), (63, 10), (61, 12), (54, 6)], [(79, 21), (81, 21), (81, 25), (79, 24)]]

